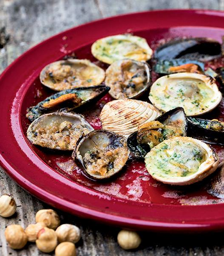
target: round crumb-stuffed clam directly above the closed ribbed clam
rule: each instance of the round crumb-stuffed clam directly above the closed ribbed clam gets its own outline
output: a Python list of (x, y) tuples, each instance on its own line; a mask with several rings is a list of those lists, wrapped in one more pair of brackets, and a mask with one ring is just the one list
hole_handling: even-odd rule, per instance
[(150, 68), (142, 61), (115, 61), (106, 70), (105, 84), (113, 98), (135, 99), (150, 86)]

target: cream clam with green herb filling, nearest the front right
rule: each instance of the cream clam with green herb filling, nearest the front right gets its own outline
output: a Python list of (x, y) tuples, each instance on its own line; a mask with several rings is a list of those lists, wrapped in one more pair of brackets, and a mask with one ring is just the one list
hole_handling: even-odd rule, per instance
[(189, 137), (164, 140), (145, 156), (148, 173), (172, 185), (198, 182), (218, 168), (218, 157), (209, 145)]

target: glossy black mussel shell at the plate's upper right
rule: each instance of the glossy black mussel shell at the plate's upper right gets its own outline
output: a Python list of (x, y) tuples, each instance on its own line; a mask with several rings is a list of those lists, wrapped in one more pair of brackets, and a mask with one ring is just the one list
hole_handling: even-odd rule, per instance
[(221, 56), (221, 45), (210, 38), (172, 40), (158, 47), (154, 56), (158, 60), (184, 58), (209, 61)]

